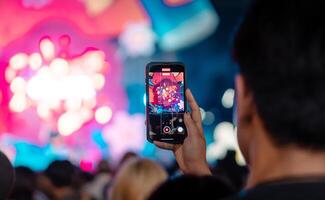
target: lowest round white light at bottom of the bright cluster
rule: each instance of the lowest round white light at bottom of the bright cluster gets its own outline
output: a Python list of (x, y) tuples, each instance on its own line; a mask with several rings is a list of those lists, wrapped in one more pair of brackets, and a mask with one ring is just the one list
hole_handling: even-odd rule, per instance
[(68, 136), (77, 131), (82, 126), (82, 121), (78, 113), (66, 112), (58, 120), (58, 131), (61, 135)]

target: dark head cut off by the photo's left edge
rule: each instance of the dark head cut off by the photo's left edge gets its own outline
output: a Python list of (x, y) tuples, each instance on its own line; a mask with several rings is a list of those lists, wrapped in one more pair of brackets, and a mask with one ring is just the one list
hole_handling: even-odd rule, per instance
[(15, 180), (14, 168), (0, 151), (0, 199), (7, 199)]

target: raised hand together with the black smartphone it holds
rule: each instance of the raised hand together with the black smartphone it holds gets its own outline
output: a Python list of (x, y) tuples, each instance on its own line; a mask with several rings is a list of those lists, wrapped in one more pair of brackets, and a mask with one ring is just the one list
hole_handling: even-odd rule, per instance
[[(147, 138), (159, 148), (173, 151), (184, 173), (210, 175), (200, 107), (191, 91), (185, 88), (183, 64), (148, 64)], [(186, 102), (191, 113), (185, 112)], [(169, 128), (164, 130), (166, 125)], [(177, 130), (178, 127), (182, 129)]]

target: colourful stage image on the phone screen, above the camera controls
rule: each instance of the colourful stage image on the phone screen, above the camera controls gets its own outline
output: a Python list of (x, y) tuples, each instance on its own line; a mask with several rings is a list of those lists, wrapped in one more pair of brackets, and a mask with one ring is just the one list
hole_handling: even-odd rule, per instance
[(149, 112), (152, 114), (184, 112), (184, 73), (149, 72)]

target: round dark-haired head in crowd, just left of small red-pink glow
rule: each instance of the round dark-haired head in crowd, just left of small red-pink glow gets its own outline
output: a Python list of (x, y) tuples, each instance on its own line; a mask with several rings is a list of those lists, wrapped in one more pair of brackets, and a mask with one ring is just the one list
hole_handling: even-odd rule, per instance
[(75, 168), (67, 160), (57, 160), (52, 162), (44, 172), (53, 186), (57, 188), (72, 186), (75, 176)]

